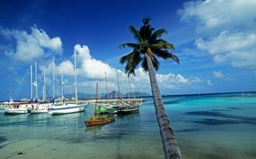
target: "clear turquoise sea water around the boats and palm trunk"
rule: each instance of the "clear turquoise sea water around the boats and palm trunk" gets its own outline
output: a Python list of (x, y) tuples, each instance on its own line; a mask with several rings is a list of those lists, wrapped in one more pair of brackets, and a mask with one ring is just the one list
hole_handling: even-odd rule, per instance
[[(86, 127), (81, 113), (0, 112), (0, 158), (165, 158), (152, 97), (138, 113)], [(256, 158), (256, 92), (163, 96), (182, 158)]]

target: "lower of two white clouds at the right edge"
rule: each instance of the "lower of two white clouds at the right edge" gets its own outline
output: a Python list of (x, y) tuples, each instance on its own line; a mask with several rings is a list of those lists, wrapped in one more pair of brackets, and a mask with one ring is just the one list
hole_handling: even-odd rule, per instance
[(222, 32), (208, 41), (198, 39), (195, 44), (199, 49), (208, 50), (215, 63), (229, 62), (233, 67), (249, 71), (256, 68), (256, 34)]

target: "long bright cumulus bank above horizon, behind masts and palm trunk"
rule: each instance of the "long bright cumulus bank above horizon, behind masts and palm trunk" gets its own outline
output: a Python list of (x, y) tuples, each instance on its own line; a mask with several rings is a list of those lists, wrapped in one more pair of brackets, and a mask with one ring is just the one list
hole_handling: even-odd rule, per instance
[[(94, 59), (90, 54), (88, 46), (77, 44), (74, 46), (74, 50), (76, 50), (77, 76), (82, 76), (84, 79), (82, 82), (79, 82), (79, 86), (82, 86), (83, 90), (90, 90), (89, 92), (93, 91), (94, 93), (95, 81), (98, 81), (99, 90), (101, 90), (101, 92), (106, 91), (106, 73), (108, 91), (118, 91), (118, 74), (121, 93), (127, 93), (130, 90), (151, 93), (150, 78), (148, 73), (145, 73), (141, 67), (135, 71), (136, 77), (131, 75), (129, 79), (127, 78), (127, 74), (123, 71), (117, 70), (117, 73), (116, 68), (109, 66), (109, 64), (106, 64), (101, 60)], [(65, 60), (58, 64), (58, 70), (61, 70), (62, 67), (64, 75), (74, 75), (73, 62)], [(198, 77), (185, 78), (181, 74), (157, 74), (157, 80), (159, 88), (163, 91), (169, 89), (186, 89), (187, 86), (196, 85), (202, 82)]]

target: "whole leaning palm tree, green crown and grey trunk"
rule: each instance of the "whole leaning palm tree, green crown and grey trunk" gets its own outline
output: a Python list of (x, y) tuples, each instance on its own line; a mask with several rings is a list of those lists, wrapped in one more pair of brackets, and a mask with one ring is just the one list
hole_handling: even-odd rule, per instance
[(121, 57), (119, 63), (126, 63), (125, 73), (127, 73), (128, 76), (130, 76), (130, 74), (135, 76), (135, 69), (140, 63), (143, 70), (150, 75), (151, 91), (154, 98), (155, 113), (157, 114), (165, 158), (182, 158), (165, 107), (163, 106), (162, 96), (155, 75), (155, 71), (159, 68), (157, 57), (163, 60), (172, 59), (177, 64), (179, 64), (179, 58), (169, 52), (169, 50), (175, 50), (174, 45), (161, 38), (163, 33), (167, 34), (167, 31), (162, 28), (153, 32), (155, 29), (152, 28), (149, 23), (150, 20), (151, 19), (145, 17), (143, 19), (144, 25), (140, 30), (133, 26), (128, 27), (137, 44), (124, 43), (118, 46), (119, 48), (128, 47), (133, 49), (131, 53)]

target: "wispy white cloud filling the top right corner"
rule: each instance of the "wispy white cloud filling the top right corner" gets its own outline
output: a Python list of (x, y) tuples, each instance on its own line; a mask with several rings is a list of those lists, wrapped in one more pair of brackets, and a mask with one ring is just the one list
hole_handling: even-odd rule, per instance
[[(182, 21), (195, 21), (198, 33), (212, 34), (233, 29), (255, 28), (256, 1), (190, 1), (177, 11)], [(210, 32), (209, 32), (210, 31)]]

